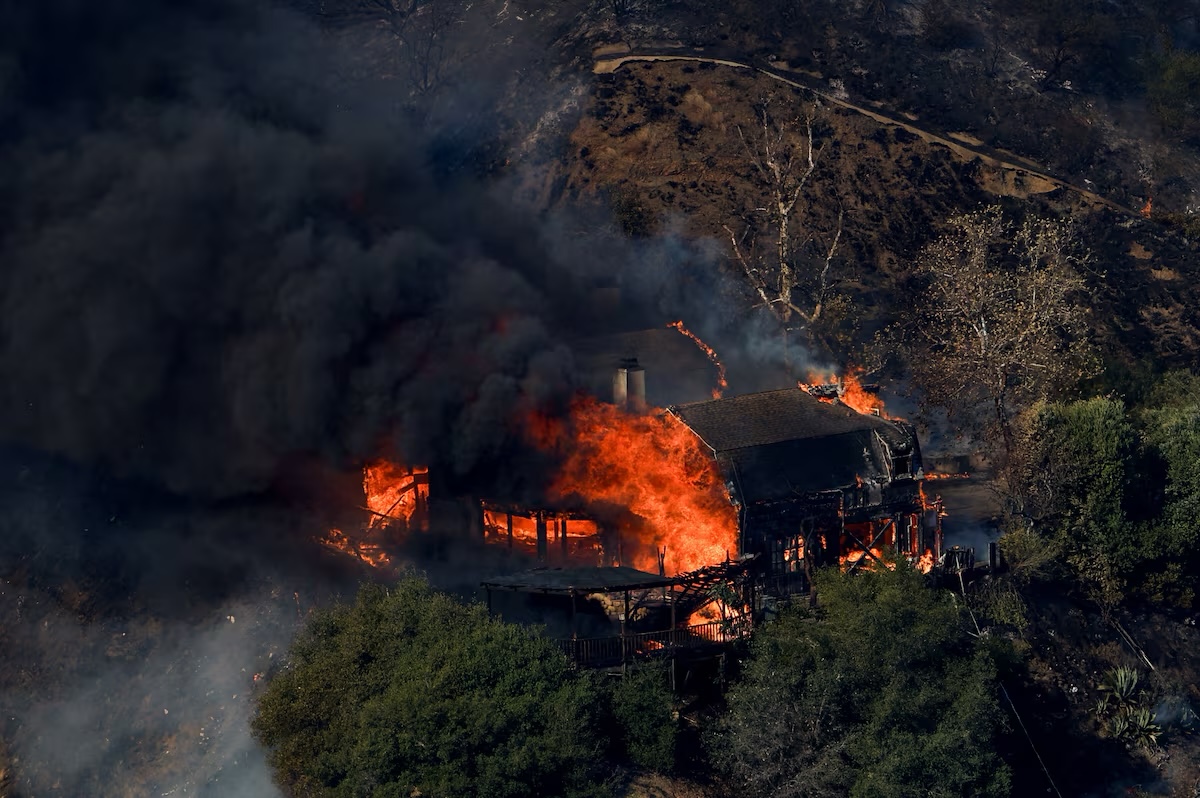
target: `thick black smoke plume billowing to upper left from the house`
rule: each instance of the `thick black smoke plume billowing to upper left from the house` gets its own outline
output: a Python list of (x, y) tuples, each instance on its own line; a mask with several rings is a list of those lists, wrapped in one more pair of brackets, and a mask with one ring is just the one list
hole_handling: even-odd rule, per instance
[[(197, 496), (464, 475), (570, 384), (536, 228), (265, 4), (23, 4), (0, 55), (0, 437)], [(554, 301), (551, 301), (551, 296)]]

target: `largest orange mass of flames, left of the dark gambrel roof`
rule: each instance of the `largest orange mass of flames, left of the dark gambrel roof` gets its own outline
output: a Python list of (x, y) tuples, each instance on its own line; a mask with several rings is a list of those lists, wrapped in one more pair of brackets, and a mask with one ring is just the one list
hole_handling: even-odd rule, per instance
[(700, 438), (667, 413), (634, 415), (589, 397), (565, 420), (535, 416), (530, 438), (563, 457), (550, 498), (619, 506), (625, 565), (674, 575), (737, 554), (737, 511)]

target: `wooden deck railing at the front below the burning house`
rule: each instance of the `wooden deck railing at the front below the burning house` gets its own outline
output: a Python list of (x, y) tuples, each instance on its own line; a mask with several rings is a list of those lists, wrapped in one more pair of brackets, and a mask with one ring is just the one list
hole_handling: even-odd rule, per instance
[(683, 652), (733, 643), (750, 634), (749, 618), (731, 618), (662, 631), (628, 632), (614, 637), (559, 640), (558, 646), (576, 665), (600, 667), (638, 658), (670, 656)]

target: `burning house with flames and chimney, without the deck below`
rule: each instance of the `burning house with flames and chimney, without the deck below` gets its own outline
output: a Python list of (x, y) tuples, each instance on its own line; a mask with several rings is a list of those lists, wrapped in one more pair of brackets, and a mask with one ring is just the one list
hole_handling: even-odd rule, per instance
[[(758, 587), (779, 595), (806, 592), (820, 565), (902, 557), (929, 570), (941, 556), (916, 431), (853, 376), (664, 410), (647, 403), (641, 364), (618, 364), (612, 402), (580, 397), (565, 414), (524, 420), (529, 443), (557, 463), (540, 499), (454, 499), (478, 538), (544, 565), (656, 577), (749, 558)], [(372, 540), (426, 526), (428, 476), (367, 468), (367, 528), (331, 542), (384, 557)]]

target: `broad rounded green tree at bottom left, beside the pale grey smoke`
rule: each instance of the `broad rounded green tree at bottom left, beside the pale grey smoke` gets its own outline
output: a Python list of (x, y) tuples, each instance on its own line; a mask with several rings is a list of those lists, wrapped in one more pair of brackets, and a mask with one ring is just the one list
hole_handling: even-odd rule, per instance
[(553, 643), (418, 578), (319, 612), (259, 700), (293, 796), (593, 796), (598, 692)]

